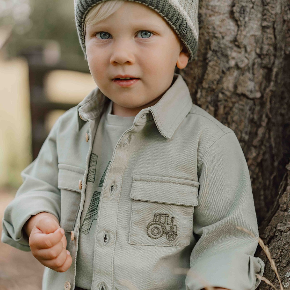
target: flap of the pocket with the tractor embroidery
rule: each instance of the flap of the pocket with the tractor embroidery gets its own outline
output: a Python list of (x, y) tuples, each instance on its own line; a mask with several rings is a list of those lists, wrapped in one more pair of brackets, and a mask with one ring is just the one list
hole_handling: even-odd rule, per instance
[(200, 184), (197, 181), (150, 175), (133, 175), (132, 178), (132, 199), (197, 206)]

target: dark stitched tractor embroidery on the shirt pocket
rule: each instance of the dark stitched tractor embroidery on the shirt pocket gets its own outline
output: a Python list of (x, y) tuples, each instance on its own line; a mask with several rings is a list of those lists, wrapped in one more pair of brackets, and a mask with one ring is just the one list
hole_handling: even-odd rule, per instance
[(168, 214), (164, 213), (154, 213), (153, 221), (147, 224), (147, 235), (151, 239), (159, 239), (162, 235), (166, 235), (168, 241), (175, 240), (177, 237), (177, 225), (173, 224), (174, 217), (171, 218), (171, 222), (168, 224), (168, 216)]

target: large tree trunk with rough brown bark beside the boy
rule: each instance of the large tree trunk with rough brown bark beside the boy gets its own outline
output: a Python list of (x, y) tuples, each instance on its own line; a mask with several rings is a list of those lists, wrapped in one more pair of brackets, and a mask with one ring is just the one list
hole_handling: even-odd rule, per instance
[[(237, 135), (260, 236), (270, 243), (284, 289), (290, 290), (289, 0), (200, 0), (198, 17), (197, 59), (177, 72), (193, 102)], [(258, 246), (255, 256), (263, 259), (265, 277), (279, 289), (261, 251)], [(258, 289), (269, 287), (262, 281)]]

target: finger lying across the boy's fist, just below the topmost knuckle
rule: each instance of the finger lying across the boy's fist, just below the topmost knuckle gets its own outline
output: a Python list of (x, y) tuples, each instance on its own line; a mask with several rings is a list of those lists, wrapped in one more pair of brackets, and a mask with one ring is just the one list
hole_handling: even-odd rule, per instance
[(56, 245), (64, 236), (64, 230), (59, 228), (53, 233), (35, 233), (30, 244), (36, 249), (49, 249)]

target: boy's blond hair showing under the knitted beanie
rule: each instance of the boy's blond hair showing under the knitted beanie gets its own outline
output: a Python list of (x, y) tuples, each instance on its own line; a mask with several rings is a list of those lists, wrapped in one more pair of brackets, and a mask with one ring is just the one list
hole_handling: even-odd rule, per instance
[[(115, 11), (117, 11), (126, 0), (107, 0), (98, 3), (97, 5), (93, 6), (90, 11), (88, 12), (86, 19), (84, 21), (84, 33), (86, 37), (86, 27), (93, 26), (100, 21), (106, 19)], [(165, 20), (165, 19), (164, 19)], [(171, 29), (172, 32), (176, 33), (171, 25), (165, 21), (167, 26)]]

